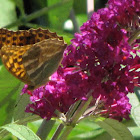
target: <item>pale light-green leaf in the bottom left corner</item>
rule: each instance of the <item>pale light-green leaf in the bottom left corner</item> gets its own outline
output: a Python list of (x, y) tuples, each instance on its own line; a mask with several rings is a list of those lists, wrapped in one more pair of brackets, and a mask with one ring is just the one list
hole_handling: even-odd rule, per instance
[(8, 124), (1, 128), (6, 129), (21, 140), (40, 140), (40, 138), (24, 125)]

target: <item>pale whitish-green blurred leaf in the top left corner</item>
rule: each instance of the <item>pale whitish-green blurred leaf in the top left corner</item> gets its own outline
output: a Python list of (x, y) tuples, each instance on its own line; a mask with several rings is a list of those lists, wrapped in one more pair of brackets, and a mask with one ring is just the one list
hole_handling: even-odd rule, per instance
[[(6, 26), (17, 19), (16, 5), (11, 0), (0, 1), (0, 27)], [(12, 28), (17, 29), (17, 28)]]

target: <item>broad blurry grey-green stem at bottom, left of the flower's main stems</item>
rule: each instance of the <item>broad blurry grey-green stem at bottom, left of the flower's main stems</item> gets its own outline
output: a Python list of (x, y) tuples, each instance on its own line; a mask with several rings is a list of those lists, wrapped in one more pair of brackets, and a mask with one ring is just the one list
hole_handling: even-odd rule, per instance
[(37, 131), (37, 135), (40, 137), (41, 140), (46, 140), (46, 137), (48, 136), (48, 134), (50, 133), (52, 127), (55, 124), (55, 120), (43, 120), (38, 131)]

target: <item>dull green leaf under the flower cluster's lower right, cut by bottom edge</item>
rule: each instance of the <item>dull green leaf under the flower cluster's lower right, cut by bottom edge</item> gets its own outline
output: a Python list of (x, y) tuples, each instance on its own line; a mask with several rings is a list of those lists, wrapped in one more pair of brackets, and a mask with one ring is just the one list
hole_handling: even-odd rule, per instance
[(97, 124), (104, 128), (115, 140), (134, 140), (128, 128), (114, 119), (98, 118)]

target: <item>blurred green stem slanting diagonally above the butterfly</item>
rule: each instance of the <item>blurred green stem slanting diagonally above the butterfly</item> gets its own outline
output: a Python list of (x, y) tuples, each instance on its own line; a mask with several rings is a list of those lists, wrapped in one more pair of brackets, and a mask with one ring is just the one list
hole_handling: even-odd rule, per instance
[(46, 14), (49, 10), (52, 10), (54, 8), (58, 8), (60, 6), (63, 6), (64, 4), (66, 4), (68, 2), (70, 2), (70, 0), (63, 0), (63, 1), (58, 2), (58, 3), (56, 3), (52, 6), (44, 7), (41, 10), (38, 10), (38, 11), (36, 11), (36, 12), (30, 14), (30, 15), (24, 15), (24, 16), (20, 17), (19, 19), (17, 19), (15, 22), (13, 22), (9, 25), (6, 25), (2, 28), (11, 28), (11, 27), (14, 27), (14, 26), (24, 25), (25, 23)]

